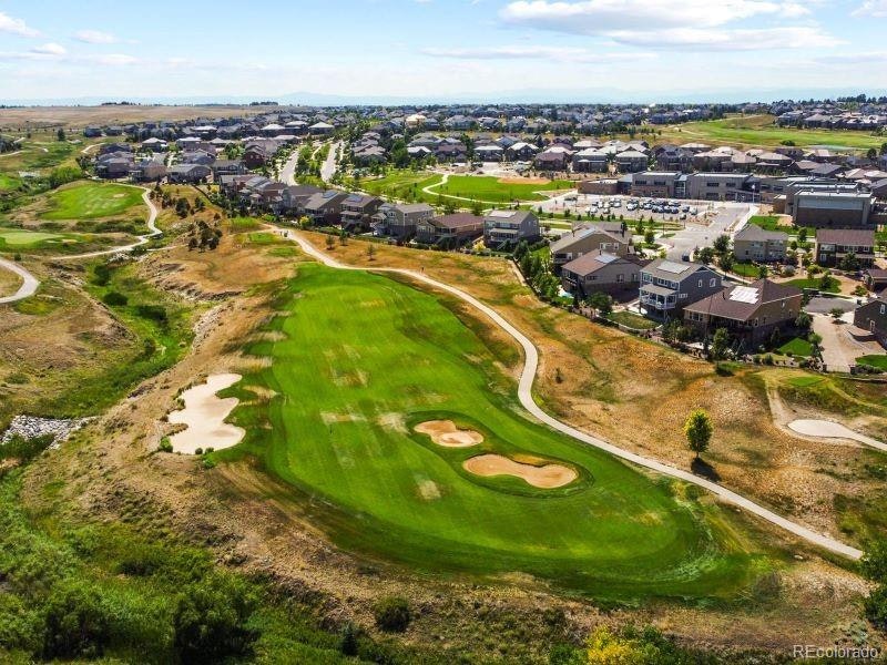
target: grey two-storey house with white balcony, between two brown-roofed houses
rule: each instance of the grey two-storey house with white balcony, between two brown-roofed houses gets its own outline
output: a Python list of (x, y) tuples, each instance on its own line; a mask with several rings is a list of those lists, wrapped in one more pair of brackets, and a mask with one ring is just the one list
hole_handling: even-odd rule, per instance
[(641, 307), (653, 318), (682, 318), (683, 309), (723, 288), (708, 266), (660, 258), (641, 269)]

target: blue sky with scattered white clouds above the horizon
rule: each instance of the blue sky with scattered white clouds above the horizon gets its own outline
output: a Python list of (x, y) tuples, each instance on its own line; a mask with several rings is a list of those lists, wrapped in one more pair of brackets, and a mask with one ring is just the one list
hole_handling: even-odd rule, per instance
[(887, 0), (0, 0), (0, 101), (887, 91)]

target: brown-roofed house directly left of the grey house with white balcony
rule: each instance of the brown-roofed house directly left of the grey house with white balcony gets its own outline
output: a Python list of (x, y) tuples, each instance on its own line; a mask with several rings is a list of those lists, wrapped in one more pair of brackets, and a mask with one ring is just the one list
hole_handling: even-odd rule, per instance
[(634, 294), (641, 282), (641, 268), (648, 263), (636, 254), (619, 256), (594, 249), (561, 268), (561, 286), (579, 298), (593, 293), (613, 296)]

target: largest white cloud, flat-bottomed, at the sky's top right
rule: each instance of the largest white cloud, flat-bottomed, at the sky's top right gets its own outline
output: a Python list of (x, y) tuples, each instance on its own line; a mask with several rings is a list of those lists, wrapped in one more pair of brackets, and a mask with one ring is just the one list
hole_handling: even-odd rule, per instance
[(808, 13), (808, 7), (795, 0), (684, 0), (680, 4), (673, 0), (519, 0), (507, 4), (500, 18), (510, 25), (650, 48), (742, 51), (839, 43), (809, 25), (728, 28), (752, 18), (785, 20)]

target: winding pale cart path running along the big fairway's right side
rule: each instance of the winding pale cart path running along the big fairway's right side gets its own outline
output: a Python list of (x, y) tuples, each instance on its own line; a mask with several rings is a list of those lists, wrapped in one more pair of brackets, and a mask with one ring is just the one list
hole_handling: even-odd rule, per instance
[[(350, 269), (350, 270), (363, 270), (365, 268), (347, 266), (343, 263), (339, 263), (332, 256), (328, 256), (320, 249), (317, 249), (314, 245), (312, 245), (307, 239), (295, 235), (293, 232), (284, 232), (286, 233), (286, 237), (292, 238), (299, 246), (305, 250), (306, 254), (314, 256), (322, 263), (334, 267), (334, 268), (341, 268), (341, 269)], [(447, 291), (452, 294), (453, 296), (461, 298), (466, 303), (472, 305), (485, 315), (487, 315), (490, 319), (492, 319), (496, 325), (502, 328), (506, 332), (508, 332), (511, 337), (513, 337), (518, 344), (523, 348), (524, 352), (524, 365), (523, 370), (521, 371), (520, 382), (518, 383), (518, 398), (520, 399), (521, 405), (524, 409), (527, 409), (530, 413), (532, 413), (536, 418), (540, 421), (544, 422), (549, 427), (558, 430), (567, 434), (568, 437), (572, 437), (573, 439), (581, 441), (583, 443), (588, 443), (589, 446), (594, 446), (595, 448), (600, 448), (609, 452), (610, 454), (618, 457), (620, 459), (626, 460), (632, 462), (633, 464), (638, 464), (639, 467), (643, 467), (645, 469), (650, 469), (663, 475), (667, 475), (671, 478), (676, 478), (684, 482), (689, 482), (701, 488), (708, 490), (710, 492), (716, 494), (720, 499), (725, 501), (726, 503), (731, 503), (736, 505), (750, 513), (753, 513), (772, 524), (775, 524), (789, 533), (797, 535), (798, 538), (823, 548), (825, 550), (829, 550), (830, 552), (835, 552), (837, 554), (842, 554), (849, 559), (860, 559), (863, 552), (857, 550), (856, 548), (852, 548), (838, 540), (835, 540), (828, 535), (824, 535), (822, 533), (817, 533), (812, 529), (808, 529), (802, 524), (793, 522), (779, 514), (776, 514), (772, 510), (755, 503), (754, 501), (737, 494), (736, 492), (728, 490), (717, 483), (711, 482), (705, 480), (704, 478), (700, 478), (694, 475), (689, 471), (684, 471), (683, 469), (677, 469), (675, 467), (670, 467), (669, 464), (664, 464), (660, 461), (642, 457), (623, 448), (619, 448), (603, 439), (599, 439), (598, 437), (593, 437), (583, 431), (575, 429), (560, 420), (549, 416), (539, 406), (533, 401), (532, 398), (532, 387), (533, 381), (536, 380), (536, 371), (539, 366), (539, 352), (533, 346), (533, 342), (523, 335), (520, 330), (514, 328), (507, 319), (504, 319), (501, 315), (499, 315), (495, 309), (488, 307), (473, 296), (453, 287), (442, 282), (438, 282), (437, 279), (432, 279), (426, 276), (424, 273), (417, 273), (415, 270), (401, 269), (401, 268), (371, 268), (374, 273), (399, 273), (402, 275), (407, 275), (414, 279), (417, 279), (424, 284), (432, 286), (437, 289)]]

